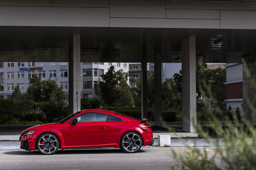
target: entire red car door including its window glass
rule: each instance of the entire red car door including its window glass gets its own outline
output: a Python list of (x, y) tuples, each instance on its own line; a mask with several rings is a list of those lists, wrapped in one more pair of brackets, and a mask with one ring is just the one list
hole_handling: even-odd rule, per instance
[(66, 123), (64, 128), (65, 146), (100, 145), (108, 133), (107, 115), (101, 113), (84, 113)]

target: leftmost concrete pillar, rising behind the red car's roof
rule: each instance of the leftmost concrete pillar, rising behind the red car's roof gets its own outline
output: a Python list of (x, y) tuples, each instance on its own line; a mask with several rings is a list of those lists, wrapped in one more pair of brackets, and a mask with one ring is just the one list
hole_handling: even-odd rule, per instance
[[(69, 56), (69, 114), (81, 110), (80, 98), (80, 34), (73, 35)], [(72, 50), (72, 53), (71, 53)]]

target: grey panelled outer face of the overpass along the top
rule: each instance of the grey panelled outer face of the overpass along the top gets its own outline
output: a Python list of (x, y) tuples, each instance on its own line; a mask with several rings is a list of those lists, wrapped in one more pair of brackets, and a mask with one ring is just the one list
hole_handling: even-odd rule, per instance
[(2, 0), (0, 6), (0, 26), (256, 28), (256, 4), (244, 2)]

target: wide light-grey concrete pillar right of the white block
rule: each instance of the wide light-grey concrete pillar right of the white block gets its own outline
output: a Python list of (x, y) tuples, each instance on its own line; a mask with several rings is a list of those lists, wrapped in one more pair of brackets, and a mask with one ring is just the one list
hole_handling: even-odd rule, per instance
[(196, 37), (182, 40), (182, 130), (196, 132)]

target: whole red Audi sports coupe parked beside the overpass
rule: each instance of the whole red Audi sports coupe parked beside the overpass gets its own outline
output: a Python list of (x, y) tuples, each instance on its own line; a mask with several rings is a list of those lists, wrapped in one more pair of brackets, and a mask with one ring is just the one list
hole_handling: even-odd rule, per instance
[(148, 119), (106, 110), (82, 110), (58, 123), (30, 127), (20, 136), (20, 148), (50, 155), (58, 149), (121, 148), (135, 153), (153, 145)]

